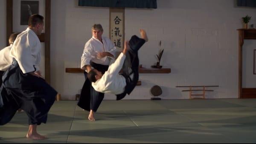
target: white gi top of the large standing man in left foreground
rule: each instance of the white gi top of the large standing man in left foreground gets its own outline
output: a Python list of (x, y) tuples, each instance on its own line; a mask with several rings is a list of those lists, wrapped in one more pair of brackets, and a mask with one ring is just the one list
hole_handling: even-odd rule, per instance
[(35, 32), (27, 28), (17, 35), (10, 51), (10, 56), (17, 60), (24, 74), (37, 72), (41, 59), (41, 43)]

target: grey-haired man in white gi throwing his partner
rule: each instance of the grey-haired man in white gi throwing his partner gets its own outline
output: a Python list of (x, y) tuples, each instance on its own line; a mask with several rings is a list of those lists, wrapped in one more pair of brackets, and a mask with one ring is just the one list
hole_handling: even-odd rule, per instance
[(102, 37), (103, 28), (101, 24), (92, 27), (93, 37), (85, 43), (84, 52), (81, 57), (81, 69), (84, 69), (84, 85), (81, 89), (78, 106), (89, 111), (88, 119), (94, 121), (93, 113), (101, 104), (104, 93), (96, 92), (87, 79), (87, 73), (97, 69), (104, 73), (108, 69), (111, 59), (115, 59), (116, 47), (108, 37)]

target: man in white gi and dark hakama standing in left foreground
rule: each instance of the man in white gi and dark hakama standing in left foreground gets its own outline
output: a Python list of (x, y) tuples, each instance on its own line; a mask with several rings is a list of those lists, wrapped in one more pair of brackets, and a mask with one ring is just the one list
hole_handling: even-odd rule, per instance
[(0, 125), (11, 121), (17, 109), (23, 109), (29, 117), (26, 138), (35, 140), (47, 138), (37, 133), (37, 126), (46, 123), (57, 95), (39, 69), (41, 43), (37, 35), (43, 29), (44, 17), (31, 15), (29, 27), (17, 36), (10, 50), (12, 65), (4, 73), (0, 88)]

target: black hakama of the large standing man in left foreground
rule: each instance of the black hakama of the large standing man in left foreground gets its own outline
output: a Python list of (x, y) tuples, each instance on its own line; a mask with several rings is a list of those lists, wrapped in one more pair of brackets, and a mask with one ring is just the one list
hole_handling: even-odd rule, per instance
[(7, 124), (18, 109), (29, 117), (28, 124), (47, 122), (47, 113), (55, 101), (57, 92), (43, 78), (23, 74), (17, 61), (3, 75), (0, 88), (0, 125)]

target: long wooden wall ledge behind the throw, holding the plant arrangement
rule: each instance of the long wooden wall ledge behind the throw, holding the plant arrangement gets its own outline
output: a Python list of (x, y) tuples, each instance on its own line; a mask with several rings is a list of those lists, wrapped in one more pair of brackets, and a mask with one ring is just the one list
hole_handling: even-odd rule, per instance
[[(80, 68), (66, 68), (66, 72), (68, 73), (83, 73), (84, 70)], [(140, 68), (140, 73), (170, 73), (171, 69), (168, 68), (161, 68), (161, 69), (147, 69), (147, 68)]]

